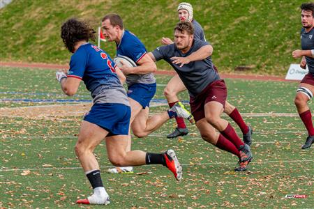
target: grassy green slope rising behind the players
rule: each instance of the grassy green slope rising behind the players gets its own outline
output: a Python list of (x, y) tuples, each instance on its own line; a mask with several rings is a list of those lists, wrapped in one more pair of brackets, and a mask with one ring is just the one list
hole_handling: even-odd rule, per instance
[[(160, 39), (173, 38), (179, 0), (15, 0), (0, 10), (2, 61), (68, 63), (60, 29), (70, 17), (88, 20), (94, 29), (107, 13), (118, 13), (148, 51)], [(291, 53), (300, 49), (303, 0), (190, 0), (194, 18), (214, 46), (213, 59), (220, 72), (234, 72), (246, 65), (248, 73), (285, 75), (290, 63), (299, 63)], [(103, 42), (110, 56), (114, 42)], [(280, 59), (278, 59), (280, 57)], [(165, 61), (158, 68), (170, 70)]]

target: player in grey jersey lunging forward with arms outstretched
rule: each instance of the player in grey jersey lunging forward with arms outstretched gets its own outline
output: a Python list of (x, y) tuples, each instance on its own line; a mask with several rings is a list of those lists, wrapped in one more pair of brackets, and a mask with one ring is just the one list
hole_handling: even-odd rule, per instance
[[(193, 39), (193, 24), (179, 22), (174, 28), (174, 43), (157, 47), (149, 56), (172, 65), (190, 94), (190, 109), (202, 139), (239, 157), (235, 171), (245, 171), (252, 160), (251, 149), (233, 127), (220, 117), (225, 108), (227, 87), (211, 61), (213, 47)], [(216, 130), (219, 132), (216, 132)]]

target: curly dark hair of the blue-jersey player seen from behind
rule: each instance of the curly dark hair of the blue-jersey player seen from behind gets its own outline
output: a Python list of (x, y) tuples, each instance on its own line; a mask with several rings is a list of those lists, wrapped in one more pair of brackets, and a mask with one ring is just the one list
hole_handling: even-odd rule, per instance
[(70, 52), (74, 52), (74, 46), (76, 42), (80, 40), (89, 41), (89, 39), (95, 41), (94, 29), (87, 24), (87, 22), (70, 18), (61, 26), (61, 38), (64, 45)]

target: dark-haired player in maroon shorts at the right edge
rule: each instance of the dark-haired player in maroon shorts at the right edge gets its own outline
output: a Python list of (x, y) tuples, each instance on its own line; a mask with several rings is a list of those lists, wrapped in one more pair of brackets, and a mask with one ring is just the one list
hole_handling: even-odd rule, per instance
[(293, 51), (292, 56), (294, 58), (302, 57), (300, 66), (306, 69), (306, 65), (308, 65), (309, 72), (299, 84), (294, 104), (306, 130), (308, 130), (306, 142), (301, 146), (302, 149), (306, 149), (311, 147), (314, 141), (312, 114), (307, 103), (314, 94), (314, 3), (303, 3), (300, 8), (303, 26), (301, 29), (301, 50)]

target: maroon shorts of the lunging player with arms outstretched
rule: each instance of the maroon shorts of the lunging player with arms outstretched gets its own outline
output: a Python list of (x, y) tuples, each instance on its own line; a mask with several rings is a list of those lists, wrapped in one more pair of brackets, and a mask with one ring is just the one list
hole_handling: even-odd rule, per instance
[(205, 104), (216, 101), (223, 104), (225, 108), (225, 100), (227, 100), (227, 87), (223, 79), (212, 82), (196, 97), (190, 96), (190, 110), (195, 122), (205, 117)]

